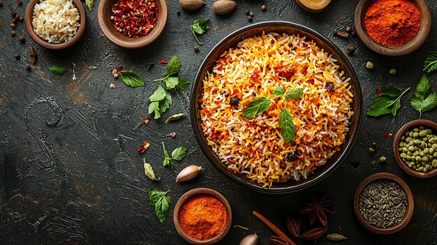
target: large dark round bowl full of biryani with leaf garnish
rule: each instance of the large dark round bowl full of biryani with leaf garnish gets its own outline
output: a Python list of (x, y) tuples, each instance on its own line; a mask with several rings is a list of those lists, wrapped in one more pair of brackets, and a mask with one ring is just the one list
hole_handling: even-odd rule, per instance
[(362, 117), (360, 83), (330, 40), (290, 22), (260, 22), (209, 52), (191, 91), (200, 148), (224, 175), (290, 193), (332, 173)]

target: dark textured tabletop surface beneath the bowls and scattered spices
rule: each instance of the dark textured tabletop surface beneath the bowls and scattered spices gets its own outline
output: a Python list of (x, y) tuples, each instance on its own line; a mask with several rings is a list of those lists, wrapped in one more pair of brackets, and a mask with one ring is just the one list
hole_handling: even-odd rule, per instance
[[(207, 52), (225, 35), (244, 27), (244, 10), (255, 14), (253, 22), (286, 20), (304, 24), (347, 49), (357, 52), (348, 58), (362, 84), (364, 108), (369, 106), (375, 89), (392, 84), (405, 89), (415, 87), (422, 76), (422, 64), (429, 52), (437, 50), (437, 30), (434, 27), (419, 50), (403, 57), (383, 57), (368, 50), (360, 40), (343, 40), (332, 35), (333, 29), (353, 24), (357, 0), (332, 1), (323, 13), (306, 13), (295, 1), (238, 1), (235, 12), (224, 17), (214, 15), (213, 1), (201, 10), (176, 15), (177, 0), (168, 1), (168, 24), (163, 36), (140, 50), (124, 50), (101, 36), (97, 21), (97, 6), (87, 10), (87, 31), (70, 50), (50, 51), (36, 45), (25, 33), (24, 24), (10, 36), (10, 10), (15, 0), (1, 0), (0, 8), (0, 243), (1, 244), (185, 244), (172, 222), (177, 199), (196, 187), (213, 188), (228, 198), (233, 212), (233, 225), (250, 229), (244, 232), (231, 228), (220, 244), (238, 244), (251, 232), (260, 236), (259, 244), (267, 244), (272, 232), (251, 212), (256, 209), (284, 228), (285, 211), (296, 211), (302, 199), (313, 192), (328, 193), (336, 201), (336, 214), (329, 220), (328, 232), (339, 232), (348, 239), (341, 244), (437, 244), (437, 181), (416, 179), (406, 175), (394, 162), (393, 138), (384, 133), (396, 133), (400, 126), (418, 113), (410, 107), (408, 97), (402, 99), (397, 117), (378, 119), (364, 116), (360, 136), (350, 155), (339, 169), (324, 181), (302, 192), (288, 195), (265, 195), (237, 186), (219, 174), (202, 155), (193, 138), (188, 117), (172, 124), (165, 118), (179, 112), (188, 113), (189, 89), (173, 95), (173, 105), (163, 119), (139, 127), (147, 115), (147, 98), (157, 86), (151, 82), (165, 73), (165, 65), (147, 64), (158, 59), (170, 59), (177, 54), (182, 59), (181, 75), (193, 80)], [(428, 0), (434, 23), (437, 23), (437, 1)], [(17, 8), (24, 14), (28, 1)], [(189, 30), (193, 20), (211, 18), (211, 29), (201, 36), (204, 45), (195, 53), (195, 40)], [(21, 44), (18, 36), (24, 35)], [(38, 63), (31, 72), (29, 46), (38, 53)], [(13, 54), (22, 55), (16, 61)], [(376, 69), (365, 68), (373, 61)], [(62, 64), (67, 72), (54, 75), (47, 66)], [(145, 87), (132, 89), (121, 80), (114, 80), (110, 70), (125, 66), (140, 73)], [(397, 68), (397, 75), (388, 73)], [(76, 79), (73, 79), (76, 77)], [(110, 89), (110, 83), (115, 89)], [(437, 90), (437, 73), (431, 75)], [(436, 121), (437, 111), (424, 114)], [(170, 131), (177, 131), (171, 138)], [(142, 140), (151, 147), (142, 156), (136, 149)], [(369, 144), (378, 142), (375, 156), (369, 156)], [(168, 149), (188, 147), (188, 156), (177, 163), (177, 171), (186, 165), (201, 165), (205, 170), (195, 181), (175, 183), (177, 172), (161, 165), (161, 141)], [(154, 166), (160, 181), (145, 177), (142, 157)], [(378, 158), (387, 156), (387, 163)], [(358, 223), (353, 213), (353, 195), (360, 181), (376, 172), (392, 172), (410, 186), (415, 198), (413, 218), (406, 228), (394, 235), (374, 235)], [(147, 201), (147, 188), (171, 190), (170, 215), (161, 224)], [(296, 240), (297, 244), (304, 244)], [(312, 244), (309, 242), (308, 244)], [(325, 237), (318, 244), (336, 244)]]

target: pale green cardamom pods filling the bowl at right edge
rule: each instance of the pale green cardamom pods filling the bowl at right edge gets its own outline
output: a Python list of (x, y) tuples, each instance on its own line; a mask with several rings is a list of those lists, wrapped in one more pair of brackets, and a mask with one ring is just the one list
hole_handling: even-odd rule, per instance
[(437, 168), (437, 136), (424, 126), (408, 129), (399, 142), (400, 157), (408, 168), (428, 172)]

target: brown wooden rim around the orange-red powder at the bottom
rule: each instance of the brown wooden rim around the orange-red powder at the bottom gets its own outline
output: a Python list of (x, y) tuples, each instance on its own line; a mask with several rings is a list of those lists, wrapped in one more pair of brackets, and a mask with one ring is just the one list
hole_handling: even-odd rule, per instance
[[(214, 198), (217, 198), (221, 202), (223, 202), (223, 205), (225, 205), (226, 212), (228, 213), (228, 218), (226, 219), (225, 228), (216, 235), (216, 237), (212, 237), (211, 239), (207, 240), (198, 240), (194, 239), (193, 237), (188, 236), (184, 229), (182, 228), (181, 223), (179, 222), (179, 211), (184, 206), (185, 202), (188, 201), (190, 198), (194, 197), (195, 195), (212, 195)], [(195, 188), (191, 191), (186, 192), (184, 195), (182, 195), (181, 198), (176, 203), (175, 211), (173, 212), (173, 221), (175, 223), (175, 228), (179, 235), (181, 235), (182, 238), (185, 239), (186, 242), (189, 242), (190, 244), (196, 244), (196, 245), (209, 245), (209, 244), (215, 244), (216, 242), (220, 241), (225, 235), (228, 233), (230, 229), (230, 224), (232, 223), (232, 211), (230, 209), (230, 205), (228, 200), (226, 200), (223, 195), (218, 193), (217, 191), (214, 191), (209, 188)]]

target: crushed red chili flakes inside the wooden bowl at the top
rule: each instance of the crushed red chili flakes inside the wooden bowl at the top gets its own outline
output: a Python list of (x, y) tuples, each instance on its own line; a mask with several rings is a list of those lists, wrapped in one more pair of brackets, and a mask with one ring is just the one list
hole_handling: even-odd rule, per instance
[(149, 35), (158, 21), (155, 0), (118, 0), (112, 5), (111, 20), (121, 34), (138, 38)]

